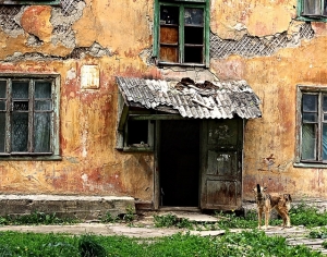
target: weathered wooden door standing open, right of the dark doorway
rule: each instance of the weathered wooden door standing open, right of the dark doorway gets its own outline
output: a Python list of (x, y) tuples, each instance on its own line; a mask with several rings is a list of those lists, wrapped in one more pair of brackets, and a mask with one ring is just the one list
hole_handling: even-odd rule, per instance
[(240, 208), (243, 120), (206, 120), (201, 133), (201, 208)]

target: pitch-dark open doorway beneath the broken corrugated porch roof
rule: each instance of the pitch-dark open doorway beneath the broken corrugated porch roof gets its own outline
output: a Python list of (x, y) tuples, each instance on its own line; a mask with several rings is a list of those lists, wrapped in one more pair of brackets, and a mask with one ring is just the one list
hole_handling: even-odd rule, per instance
[(160, 206), (198, 207), (199, 121), (161, 121)]

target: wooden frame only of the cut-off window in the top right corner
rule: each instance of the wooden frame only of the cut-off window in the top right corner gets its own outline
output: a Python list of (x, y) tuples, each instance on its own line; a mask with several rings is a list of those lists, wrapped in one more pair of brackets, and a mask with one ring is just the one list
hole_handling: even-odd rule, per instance
[[(304, 1), (298, 0), (298, 20), (300, 21), (312, 21), (312, 22), (327, 22), (327, 1), (326, 0), (315, 0), (320, 4), (320, 13), (311, 14), (304, 13)], [(325, 10), (325, 13), (324, 13)]]

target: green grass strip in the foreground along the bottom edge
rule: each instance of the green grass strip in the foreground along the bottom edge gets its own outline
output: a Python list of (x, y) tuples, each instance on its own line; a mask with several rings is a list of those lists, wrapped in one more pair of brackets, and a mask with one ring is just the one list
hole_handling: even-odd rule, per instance
[(0, 233), (0, 256), (322, 256), (305, 246), (288, 246), (286, 238), (268, 237), (263, 231), (222, 236), (174, 234), (159, 238), (125, 236)]

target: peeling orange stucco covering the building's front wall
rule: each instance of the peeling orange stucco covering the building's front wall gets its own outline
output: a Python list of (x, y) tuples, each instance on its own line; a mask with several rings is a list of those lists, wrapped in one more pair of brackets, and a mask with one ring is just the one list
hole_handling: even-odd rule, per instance
[[(210, 30), (222, 40), (244, 35), (293, 35), (296, 0), (211, 0)], [(114, 76), (191, 76), (158, 69), (146, 62), (153, 45), (153, 0), (95, 1), (77, 5), (64, 17), (52, 7), (24, 7), (17, 15), (21, 30), (0, 28), (0, 72), (58, 73), (61, 76), (60, 154), (62, 161), (0, 160), (0, 192), (17, 194), (130, 195), (150, 201), (154, 192), (154, 156), (114, 149), (118, 88)], [(61, 22), (62, 21), (62, 22)], [(71, 39), (53, 36), (63, 23)], [(311, 23), (314, 37), (271, 56), (229, 56), (210, 59), (203, 72), (221, 79), (245, 79), (262, 99), (263, 118), (245, 127), (243, 197), (264, 182), (269, 188), (295, 197), (327, 198), (324, 169), (294, 168), (295, 93), (298, 84), (327, 86), (327, 23)], [(28, 44), (31, 36), (40, 44)], [(100, 46), (106, 54), (74, 50)], [(37, 53), (38, 58), (28, 56)], [(81, 88), (81, 68), (97, 65), (99, 88)], [(190, 71), (191, 70), (191, 71)], [(201, 72), (199, 72), (201, 73)], [(196, 72), (198, 77), (198, 72)], [(195, 78), (195, 77), (192, 77)], [(274, 155), (270, 167), (264, 158)], [(326, 181), (327, 183), (327, 181)]]

